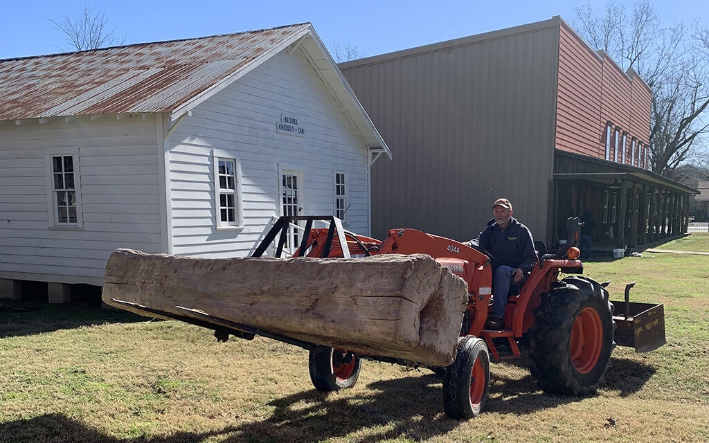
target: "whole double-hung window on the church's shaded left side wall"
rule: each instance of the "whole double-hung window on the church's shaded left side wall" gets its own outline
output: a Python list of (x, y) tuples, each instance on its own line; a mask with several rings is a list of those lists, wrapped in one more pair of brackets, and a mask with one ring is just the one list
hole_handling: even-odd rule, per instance
[(79, 148), (45, 150), (49, 225), (51, 228), (82, 228)]

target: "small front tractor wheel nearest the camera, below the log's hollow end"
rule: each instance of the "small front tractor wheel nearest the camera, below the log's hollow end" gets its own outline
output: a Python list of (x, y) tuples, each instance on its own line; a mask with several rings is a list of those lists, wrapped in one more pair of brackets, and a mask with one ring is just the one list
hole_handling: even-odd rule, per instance
[(458, 339), (455, 361), (443, 376), (443, 410), (453, 419), (476, 417), (484, 408), (490, 387), (490, 354), (484, 340), (468, 335)]

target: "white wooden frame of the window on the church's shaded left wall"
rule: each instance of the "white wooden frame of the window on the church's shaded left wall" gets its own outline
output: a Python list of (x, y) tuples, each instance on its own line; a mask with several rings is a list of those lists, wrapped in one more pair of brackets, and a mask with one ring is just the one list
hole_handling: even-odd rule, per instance
[[(82, 181), (81, 181), (81, 165), (79, 164), (79, 147), (48, 147), (44, 150), (45, 156), (45, 186), (47, 189), (47, 214), (50, 229), (68, 229), (68, 230), (83, 230), (84, 229), (84, 214), (82, 211)], [(52, 159), (55, 157), (72, 157), (72, 174), (74, 175), (74, 206), (77, 208), (77, 221), (75, 223), (59, 221), (59, 206), (57, 202), (57, 191), (54, 186), (54, 164)], [(63, 162), (62, 162), (63, 163)], [(66, 190), (66, 188), (64, 188)], [(68, 218), (68, 216), (67, 216)]]

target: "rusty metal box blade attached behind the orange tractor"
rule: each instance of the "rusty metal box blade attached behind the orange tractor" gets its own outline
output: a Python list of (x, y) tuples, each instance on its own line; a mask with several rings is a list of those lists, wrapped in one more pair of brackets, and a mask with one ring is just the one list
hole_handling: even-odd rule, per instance
[(615, 306), (613, 320), (615, 344), (635, 347), (635, 352), (649, 352), (666, 343), (664, 331), (664, 305), (662, 303), (632, 303), (630, 288), (625, 287), (625, 301), (611, 301)]

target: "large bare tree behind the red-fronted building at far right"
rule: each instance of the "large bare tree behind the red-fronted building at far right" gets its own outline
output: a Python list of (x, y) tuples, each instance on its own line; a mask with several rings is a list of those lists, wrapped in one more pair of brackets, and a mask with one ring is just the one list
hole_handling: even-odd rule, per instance
[[(649, 0), (633, 5), (628, 18), (625, 8), (612, 2), (605, 15), (596, 16), (590, 4), (575, 9), (572, 23), (588, 43), (602, 49), (618, 65), (633, 69), (652, 89), (650, 161), (654, 172), (671, 171), (705, 148), (709, 132), (709, 45), (697, 50), (709, 30), (688, 36), (682, 23), (661, 26)], [(705, 41), (709, 43), (709, 41)]]

